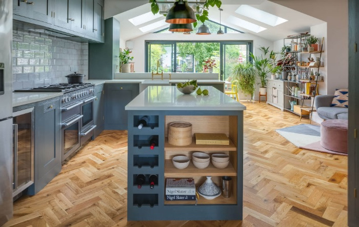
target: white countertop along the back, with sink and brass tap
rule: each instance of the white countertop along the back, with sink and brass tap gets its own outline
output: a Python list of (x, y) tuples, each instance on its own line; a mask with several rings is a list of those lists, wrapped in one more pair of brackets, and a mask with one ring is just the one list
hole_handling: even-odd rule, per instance
[[(149, 79), (89, 79), (89, 80), (84, 80), (84, 82), (89, 82), (94, 84), (95, 86), (97, 85), (102, 85), (102, 84), (111, 84), (111, 83), (116, 83), (116, 84), (130, 84), (130, 83), (138, 83), (138, 84), (142, 84), (143, 81), (145, 80), (150, 80)], [(175, 84), (178, 82), (184, 82), (187, 81), (188, 79), (170, 79), (169, 83), (170, 84)], [(161, 82), (161, 79), (154, 79), (153, 81), (158, 81)], [(223, 80), (219, 80), (219, 79), (197, 79), (197, 83), (202, 83), (202, 84), (224, 84), (225, 81)]]

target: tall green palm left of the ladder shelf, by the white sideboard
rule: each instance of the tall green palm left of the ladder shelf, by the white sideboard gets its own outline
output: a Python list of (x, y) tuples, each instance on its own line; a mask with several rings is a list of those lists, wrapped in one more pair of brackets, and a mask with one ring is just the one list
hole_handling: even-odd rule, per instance
[(267, 75), (270, 72), (268, 69), (269, 59), (266, 56), (269, 52), (269, 47), (260, 47), (259, 49), (263, 52), (261, 56), (254, 56), (253, 53), (249, 55), (253, 58), (255, 74), (261, 79), (261, 83), (258, 84), (261, 84), (261, 88), (265, 88), (267, 86)]

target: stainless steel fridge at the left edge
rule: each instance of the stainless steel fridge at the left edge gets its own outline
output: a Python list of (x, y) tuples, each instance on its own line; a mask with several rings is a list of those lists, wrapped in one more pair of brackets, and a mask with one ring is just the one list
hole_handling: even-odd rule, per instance
[(0, 226), (12, 218), (12, 1), (0, 0)]

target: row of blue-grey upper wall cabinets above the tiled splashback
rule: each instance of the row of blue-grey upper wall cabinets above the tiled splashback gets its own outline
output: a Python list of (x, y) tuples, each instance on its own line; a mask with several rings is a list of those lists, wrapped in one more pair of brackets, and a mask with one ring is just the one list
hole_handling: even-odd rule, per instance
[(13, 0), (14, 19), (104, 43), (104, 0)]

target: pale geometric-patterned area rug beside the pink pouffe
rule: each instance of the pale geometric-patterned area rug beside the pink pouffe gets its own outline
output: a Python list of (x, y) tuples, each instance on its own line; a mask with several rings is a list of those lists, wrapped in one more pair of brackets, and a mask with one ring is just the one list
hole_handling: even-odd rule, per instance
[(294, 146), (301, 149), (336, 155), (348, 155), (346, 153), (330, 151), (322, 147), (320, 126), (302, 124), (283, 129), (277, 129), (275, 131), (286, 138), (289, 142), (293, 143)]

